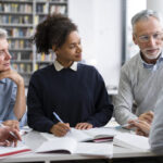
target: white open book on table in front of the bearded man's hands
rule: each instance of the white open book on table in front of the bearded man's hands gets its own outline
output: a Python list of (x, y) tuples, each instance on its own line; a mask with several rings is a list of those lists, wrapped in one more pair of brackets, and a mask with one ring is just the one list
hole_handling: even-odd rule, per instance
[(114, 137), (114, 145), (129, 148), (129, 149), (138, 149), (142, 151), (148, 151), (150, 149), (149, 141), (147, 137), (138, 136), (129, 133), (122, 133)]

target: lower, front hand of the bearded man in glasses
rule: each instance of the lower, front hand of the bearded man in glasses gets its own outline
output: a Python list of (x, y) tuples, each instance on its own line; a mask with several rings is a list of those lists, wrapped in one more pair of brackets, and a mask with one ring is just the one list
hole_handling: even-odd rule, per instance
[(136, 128), (136, 134), (141, 136), (149, 136), (149, 131), (151, 128), (151, 125), (147, 123), (146, 121), (140, 120), (131, 120), (128, 122), (129, 128)]

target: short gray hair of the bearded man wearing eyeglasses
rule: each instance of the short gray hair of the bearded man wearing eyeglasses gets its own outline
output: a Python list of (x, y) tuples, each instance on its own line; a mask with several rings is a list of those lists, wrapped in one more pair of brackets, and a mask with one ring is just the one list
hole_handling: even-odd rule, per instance
[(163, 27), (163, 18), (160, 13), (158, 13), (156, 11), (153, 11), (153, 10), (142, 10), (142, 11), (138, 12), (136, 15), (134, 15), (131, 18), (133, 30), (134, 30), (134, 26), (137, 22), (143, 21), (143, 20), (146, 21), (150, 16), (155, 17)]

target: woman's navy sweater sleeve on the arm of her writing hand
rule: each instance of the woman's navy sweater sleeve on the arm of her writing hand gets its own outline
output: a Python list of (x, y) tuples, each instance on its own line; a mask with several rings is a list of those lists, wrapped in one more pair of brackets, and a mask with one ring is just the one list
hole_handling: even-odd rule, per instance
[(38, 131), (49, 133), (53, 122), (45, 115), (42, 109), (41, 92), (43, 88), (41, 88), (40, 82), (41, 79), (38, 79), (36, 74), (32, 76), (27, 95), (27, 122), (29, 127)]

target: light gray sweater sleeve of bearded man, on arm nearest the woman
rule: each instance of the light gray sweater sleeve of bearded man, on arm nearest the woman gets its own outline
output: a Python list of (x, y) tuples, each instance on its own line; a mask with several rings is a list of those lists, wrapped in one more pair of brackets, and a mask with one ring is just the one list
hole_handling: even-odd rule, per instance
[(131, 91), (131, 82), (126, 72), (127, 70), (122, 68), (118, 93), (114, 97), (114, 116), (121, 125), (126, 124), (129, 120), (137, 118), (137, 116), (131, 113), (134, 95)]

